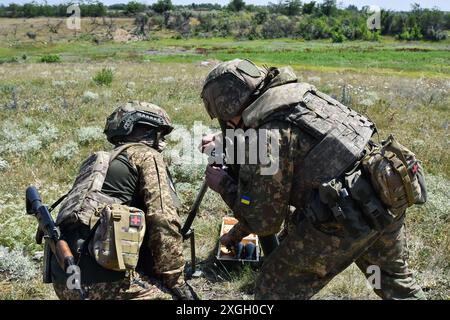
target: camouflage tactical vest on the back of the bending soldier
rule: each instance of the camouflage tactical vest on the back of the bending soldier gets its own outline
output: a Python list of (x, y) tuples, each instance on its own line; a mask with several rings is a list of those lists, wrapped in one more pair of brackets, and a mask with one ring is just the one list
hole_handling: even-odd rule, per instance
[(314, 138), (303, 159), (299, 177), (305, 189), (339, 177), (364, 153), (375, 132), (366, 117), (307, 83), (270, 87), (242, 114), (247, 127), (288, 121)]

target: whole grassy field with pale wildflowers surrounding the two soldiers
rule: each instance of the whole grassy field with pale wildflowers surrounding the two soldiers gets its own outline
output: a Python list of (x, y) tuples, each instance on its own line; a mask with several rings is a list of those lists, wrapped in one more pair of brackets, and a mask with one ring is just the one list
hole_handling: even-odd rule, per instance
[[(6, 23), (11, 21), (0, 20), (0, 26)], [(26, 186), (36, 185), (47, 203), (65, 193), (80, 162), (95, 150), (110, 148), (101, 131), (105, 117), (123, 101), (159, 104), (179, 128), (189, 129), (195, 121), (216, 127), (203, 110), (202, 81), (216, 61), (235, 57), (292, 65), (302, 81), (369, 115), (382, 138), (392, 132), (417, 153), (427, 171), (430, 198), (408, 212), (410, 264), (428, 298), (450, 298), (448, 42), (176, 40), (164, 33), (150, 41), (98, 45), (70, 35), (51, 44), (39, 37), (25, 41), (23, 34), (17, 38), (0, 36), (0, 299), (55, 298), (51, 287), (40, 283), (39, 263), (33, 260), (42, 248), (34, 243), (35, 221), (25, 216)], [(45, 54), (57, 54), (61, 62), (39, 62)], [(92, 80), (104, 67), (113, 70), (111, 86)], [(171, 168), (184, 217), (203, 166)], [(194, 224), (206, 277), (192, 284), (206, 299), (251, 299), (256, 272), (249, 267), (223, 270), (211, 259), (225, 213), (219, 197), (209, 191)], [(185, 253), (189, 258), (187, 243)], [(352, 266), (316, 298), (376, 296)]]

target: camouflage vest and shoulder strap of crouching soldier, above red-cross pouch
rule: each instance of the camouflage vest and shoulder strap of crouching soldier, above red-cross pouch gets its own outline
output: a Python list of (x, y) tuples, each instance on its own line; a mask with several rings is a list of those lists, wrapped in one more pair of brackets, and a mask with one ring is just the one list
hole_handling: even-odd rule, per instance
[(87, 158), (80, 167), (72, 189), (61, 203), (56, 225), (62, 228), (77, 226), (78, 223), (89, 226), (91, 216), (100, 204), (120, 203), (117, 198), (101, 192), (109, 164), (125, 149), (142, 145), (129, 143), (113, 152), (99, 151)]

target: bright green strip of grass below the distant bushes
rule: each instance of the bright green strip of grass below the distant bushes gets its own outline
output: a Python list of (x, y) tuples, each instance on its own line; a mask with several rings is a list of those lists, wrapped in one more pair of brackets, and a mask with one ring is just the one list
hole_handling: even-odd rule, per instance
[(233, 39), (156, 39), (126, 44), (107, 42), (93, 46), (77, 41), (53, 45), (0, 48), (0, 60), (27, 54), (59, 54), (67, 62), (126, 60), (198, 62), (205, 59), (248, 58), (258, 63), (294, 65), (313, 69), (348, 69), (358, 72), (446, 76), (450, 74), (450, 49), (445, 43), (354, 41), (296, 41), (292, 39), (236, 41)]

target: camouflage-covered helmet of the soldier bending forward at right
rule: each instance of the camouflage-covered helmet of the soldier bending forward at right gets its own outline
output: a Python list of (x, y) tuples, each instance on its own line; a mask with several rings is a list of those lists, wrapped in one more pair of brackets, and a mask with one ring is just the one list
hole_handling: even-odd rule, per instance
[(235, 59), (217, 65), (206, 77), (202, 89), (210, 117), (228, 121), (240, 114), (266, 75), (266, 70), (249, 60)]

